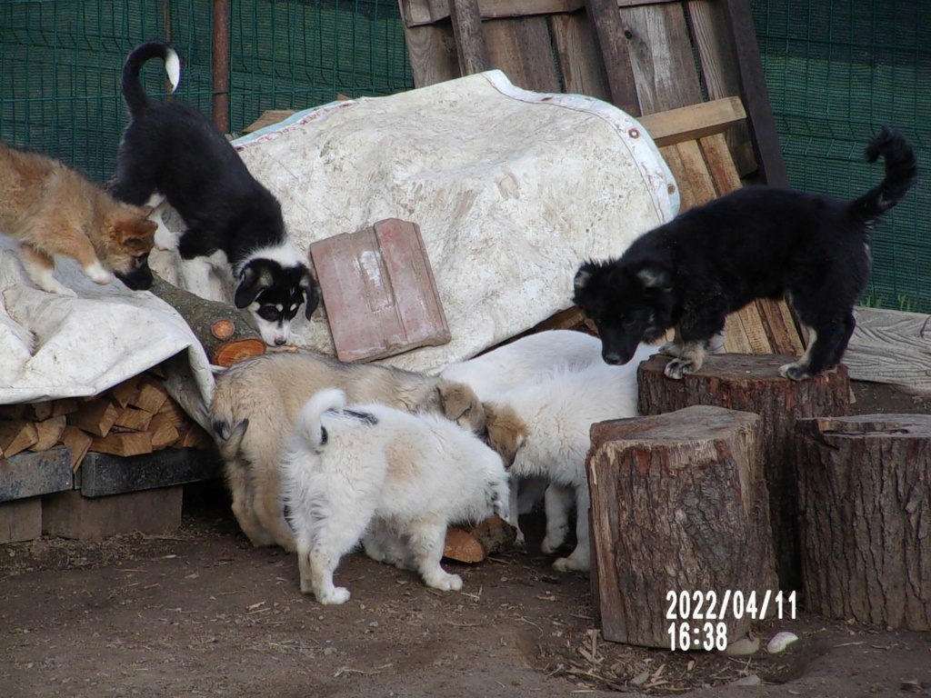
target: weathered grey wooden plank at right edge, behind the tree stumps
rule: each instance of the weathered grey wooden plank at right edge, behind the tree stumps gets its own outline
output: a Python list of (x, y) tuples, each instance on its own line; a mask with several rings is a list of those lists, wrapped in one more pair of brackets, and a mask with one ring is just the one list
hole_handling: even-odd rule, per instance
[(931, 393), (931, 316), (857, 307), (843, 363), (858, 381)]

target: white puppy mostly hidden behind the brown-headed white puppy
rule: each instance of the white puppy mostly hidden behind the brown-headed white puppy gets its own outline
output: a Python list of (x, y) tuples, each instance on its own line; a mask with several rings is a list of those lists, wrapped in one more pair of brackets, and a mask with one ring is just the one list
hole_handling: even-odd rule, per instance
[[(439, 377), (468, 385), (479, 400), (502, 396), (524, 383), (538, 381), (554, 371), (577, 371), (603, 363), (601, 341), (585, 332), (572, 329), (549, 329), (521, 337), (492, 351), (460, 361), (441, 370)], [(508, 522), (517, 530), (515, 543), (524, 544), (519, 514), (533, 509), (546, 490), (546, 520), (567, 519), (573, 493), (552, 490), (542, 477), (518, 477), (512, 473)], [(550, 511), (550, 507), (553, 507)]]

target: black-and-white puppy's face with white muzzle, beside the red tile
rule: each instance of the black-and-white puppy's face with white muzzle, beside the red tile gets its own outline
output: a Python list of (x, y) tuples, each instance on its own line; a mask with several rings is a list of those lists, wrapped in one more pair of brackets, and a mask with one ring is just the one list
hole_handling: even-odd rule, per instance
[(253, 257), (239, 272), (236, 307), (269, 346), (290, 340), (290, 323), (304, 305), (307, 319), (320, 302), (317, 282), (301, 262), (282, 264), (268, 257)]

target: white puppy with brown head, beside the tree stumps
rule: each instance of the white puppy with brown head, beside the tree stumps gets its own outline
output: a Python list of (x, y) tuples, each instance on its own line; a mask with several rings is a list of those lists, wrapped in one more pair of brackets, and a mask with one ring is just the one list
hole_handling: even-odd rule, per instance
[(621, 366), (599, 362), (561, 371), (521, 385), (485, 403), (488, 440), (506, 460), (511, 476), (545, 477), (545, 553), (555, 552), (568, 533), (568, 510), (575, 499), (577, 544), (557, 570), (589, 570), (588, 478), (585, 462), (593, 423), (637, 416), (637, 367), (657, 349), (641, 344)]

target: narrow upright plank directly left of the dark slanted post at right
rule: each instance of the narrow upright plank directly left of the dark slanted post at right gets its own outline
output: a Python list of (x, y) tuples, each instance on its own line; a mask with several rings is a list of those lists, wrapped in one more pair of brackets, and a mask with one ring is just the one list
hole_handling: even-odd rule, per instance
[[(739, 95), (739, 68), (721, 2), (690, 0), (685, 3), (685, 10), (708, 99), (719, 100)], [(757, 163), (747, 124), (735, 124), (724, 137), (740, 176), (756, 171)]]

